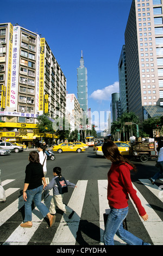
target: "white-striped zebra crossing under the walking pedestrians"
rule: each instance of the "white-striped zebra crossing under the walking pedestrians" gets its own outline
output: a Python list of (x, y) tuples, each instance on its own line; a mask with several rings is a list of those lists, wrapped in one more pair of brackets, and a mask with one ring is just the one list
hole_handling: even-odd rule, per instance
[[(10, 196), (13, 196), (14, 193), (20, 191), (21, 189), (19, 187), (17, 188), (15, 188), (14, 186), (12, 187), (12, 184), (14, 185), (14, 181), (15, 180), (9, 180), (9, 179), (2, 181), (2, 186), (4, 187), (4, 189), (6, 185), (10, 184), (10, 188), (5, 190), (7, 201), (10, 198)], [(163, 180), (160, 179), (160, 181), (163, 181)], [(140, 179), (139, 182), (141, 182), (141, 185), (145, 186), (146, 193), (142, 194), (139, 190), (137, 190), (134, 184), (133, 184), (133, 187), (137, 191), (137, 196), (140, 198), (141, 203), (145, 207), (145, 210), (149, 216), (149, 220), (147, 222), (144, 222), (142, 218), (139, 216), (134, 203), (130, 199), (131, 203), (135, 208), (135, 212), (137, 213), (137, 216), (140, 217), (140, 220), (142, 222), (142, 227), (147, 230), (147, 233), (151, 238), (153, 245), (163, 245), (163, 233), (162, 233), (163, 222), (161, 218), (158, 216), (158, 214), (156, 214), (154, 207), (152, 208), (152, 206), (147, 202), (145, 198), (145, 194), (147, 194), (149, 191), (149, 193), (152, 193), (152, 195), (154, 195), (155, 202), (158, 202), (159, 205), (161, 204), (162, 206), (163, 191), (161, 189), (163, 188), (163, 186), (152, 185), (148, 179)], [(108, 214), (109, 212), (108, 200), (106, 198), (107, 183), (108, 183), (107, 180), (98, 180), (97, 182), (98, 200), (99, 200), (99, 209), (98, 209), (99, 233), (100, 233), (99, 245), (103, 245), (103, 232), (104, 232), (103, 214), (104, 213)], [(79, 180), (77, 182), (77, 188), (73, 190), (71, 198), (68, 202), (68, 206), (70, 206), (70, 208), (72, 208), (75, 211), (75, 214), (73, 215), (71, 220), (69, 220), (68, 217), (64, 214), (62, 215), (60, 222), (55, 223), (56, 225), (55, 232), (54, 232), (55, 234), (53, 234), (52, 239), (49, 242), (50, 245), (76, 245), (77, 233), (78, 233), (79, 224), (82, 217), (83, 205), (86, 200), (86, 189), (88, 184), (89, 184), (88, 180)], [(52, 190), (50, 191), (50, 196), (45, 200), (45, 202), (42, 201), (45, 203), (47, 208), (49, 208), (50, 206), (51, 196), (52, 196)], [(1, 204), (4, 205), (4, 209), (0, 211), (0, 245), (28, 245), (32, 237), (35, 236), (35, 233), (39, 229), (41, 223), (45, 222), (42, 215), (40, 214), (40, 211), (36, 207), (32, 211), (32, 222), (33, 222), (32, 228), (21, 228), (20, 224), (22, 222), (22, 215), (20, 214), (20, 210), (22, 210), (24, 206), (23, 196), (19, 196), (14, 200), (14, 202), (11, 202), (10, 204), (8, 204), (8, 206), (5, 206), (5, 204), (7, 203), (1, 203)], [(19, 224), (17, 224), (18, 222), (16, 221), (14, 222), (17, 212), (19, 212), (19, 216), (20, 216)], [(9, 223), (12, 223), (12, 225), (9, 225)], [(48, 232), (51, 232), (50, 230), (52, 230), (52, 228), (48, 228), (48, 225), (46, 225), (47, 234)], [(126, 244), (117, 236), (115, 236), (114, 238), (115, 238), (115, 245)]]

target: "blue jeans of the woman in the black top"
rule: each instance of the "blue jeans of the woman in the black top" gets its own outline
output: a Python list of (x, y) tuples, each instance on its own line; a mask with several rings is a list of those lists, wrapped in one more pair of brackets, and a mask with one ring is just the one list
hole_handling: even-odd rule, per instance
[(49, 210), (45, 204), (41, 203), (43, 185), (36, 187), (33, 190), (27, 190), (27, 201), (25, 202), (25, 218), (23, 222), (32, 221), (32, 201), (34, 200), (35, 206), (39, 209), (42, 216), (45, 217)]

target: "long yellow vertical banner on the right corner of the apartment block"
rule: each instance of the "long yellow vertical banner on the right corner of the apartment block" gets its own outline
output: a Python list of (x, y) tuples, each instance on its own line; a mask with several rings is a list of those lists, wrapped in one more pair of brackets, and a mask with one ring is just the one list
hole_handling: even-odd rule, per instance
[(39, 111), (43, 111), (44, 54), (45, 54), (45, 38), (41, 38), (40, 39)]

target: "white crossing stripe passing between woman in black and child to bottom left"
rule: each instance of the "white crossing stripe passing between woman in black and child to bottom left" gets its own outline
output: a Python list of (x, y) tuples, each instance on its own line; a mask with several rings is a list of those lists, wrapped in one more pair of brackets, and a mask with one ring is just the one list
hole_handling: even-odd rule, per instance
[[(53, 195), (53, 190), (50, 191), (50, 195)], [(46, 206), (49, 208), (51, 197), (47, 198)], [(32, 211), (32, 228), (22, 228), (20, 225), (12, 232), (3, 245), (27, 245), (37, 228), (43, 221), (41, 212), (37, 207)]]

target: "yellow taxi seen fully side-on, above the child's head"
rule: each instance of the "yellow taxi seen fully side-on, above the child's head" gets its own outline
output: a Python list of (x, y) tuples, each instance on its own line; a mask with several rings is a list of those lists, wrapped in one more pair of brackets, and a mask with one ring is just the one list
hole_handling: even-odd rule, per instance
[(74, 145), (73, 143), (60, 143), (59, 145), (53, 146), (53, 151), (57, 151), (58, 153), (62, 152), (82, 152), (85, 151), (85, 148), (83, 148), (81, 145)]

